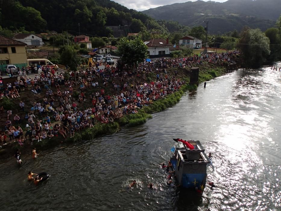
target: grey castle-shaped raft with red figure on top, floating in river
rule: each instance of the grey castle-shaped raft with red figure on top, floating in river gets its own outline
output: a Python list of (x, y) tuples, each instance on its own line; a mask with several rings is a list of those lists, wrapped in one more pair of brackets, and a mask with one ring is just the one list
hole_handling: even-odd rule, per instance
[(205, 149), (200, 141), (173, 140), (184, 145), (181, 148), (175, 147), (175, 152), (170, 158), (178, 183), (181, 187), (202, 194), (206, 185), (207, 165), (211, 162), (205, 154)]

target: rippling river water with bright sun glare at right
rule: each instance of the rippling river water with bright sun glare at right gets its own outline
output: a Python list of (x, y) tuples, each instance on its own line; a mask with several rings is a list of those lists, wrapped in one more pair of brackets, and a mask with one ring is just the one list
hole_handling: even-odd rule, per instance
[[(20, 168), (14, 158), (0, 161), (0, 209), (280, 210), (280, 124), (281, 71), (238, 70), (139, 127), (23, 156)], [(200, 140), (213, 153), (207, 181), (217, 187), (202, 198), (166, 185), (159, 164), (170, 158), (172, 138)], [(51, 177), (34, 186), (28, 171)]]

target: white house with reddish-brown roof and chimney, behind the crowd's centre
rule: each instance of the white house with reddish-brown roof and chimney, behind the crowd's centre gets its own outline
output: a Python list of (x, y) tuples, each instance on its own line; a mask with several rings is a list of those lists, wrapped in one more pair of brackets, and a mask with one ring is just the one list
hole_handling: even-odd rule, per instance
[(145, 41), (144, 44), (148, 47), (148, 52), (151, 57), (170, 54), (169, 48), (173, 46), (169, 44), (169, 39), (150, 39)]

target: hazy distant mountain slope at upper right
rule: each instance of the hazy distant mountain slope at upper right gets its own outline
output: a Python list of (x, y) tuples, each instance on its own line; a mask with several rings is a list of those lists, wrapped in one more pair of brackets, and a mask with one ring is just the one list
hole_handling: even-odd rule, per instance
[[(185, 2), (142, 11), (156, 20), (174, 20), (193, 27), (211, 20), (211, 33), (241, 30), (244, 26), (266, 30), (273, 27), (281, 13), (280, 0), (229, 0), (227, 2)], [(202, 15), (212, 14), (212, 15)]]

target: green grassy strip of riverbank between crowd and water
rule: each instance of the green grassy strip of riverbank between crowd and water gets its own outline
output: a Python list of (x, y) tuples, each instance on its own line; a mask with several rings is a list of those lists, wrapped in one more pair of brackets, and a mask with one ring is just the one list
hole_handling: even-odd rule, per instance
[[(227, 67), (216, 66), (208, 63), (200, 65), (199, 68), (199, 83), (211, 80), (215, 77), (219, 77), (227, 72)], [(148, 118), (151, 118), (150, 114), (161, 112), (164, 109), (172, 107), (180, 101), (180, 98), (185, 94), (186, 91), (195, 90), (197, 88), (196, 85), (189, 85), (190, 68), (167, 68), (168, 74), (173, 74), (175, 71), (177, 71), (177, 77), (181, 80), (185, 80), (186, 84), (181, 86), (180, 90), (178, 90), (177, 92), (169, 94), (163, 99), (154, 101), (150, 106), (144, 106), (143, 109), (139, 109), (138, 113), (125, 115), (119, 120), (108, 124), (96, 123), (94, 128), (88, 128), (84, 131), (81, 131), (80, 133), (75, 133), (74, 137), (72, 138), (67, 137), (66, 139), (63, 139), (61, 136), (53, 137), (51, 139), (47, 138), (43, 139), (40, 142), (35, 141), (33, 145), (27, 143), (22, 147), (20, 147), (17, 142), (10, 143), (3, 146), (0, 150), (0, 158), (13, 156), (16, 149), (20, 149), (22, 154), (30, 154), (33, 147), (36, 147), (38, 151), (45, 150), (64, 143), (75, 143), (81, 140), (92, 140), (100, 135), (113, 134), (119, 131), (120, 127), (124, 125), (133, 127), (139, 124), (143, 124)], [(131, 81), (134, 80), (136, 81), (138, 79), (132, 78)], [(145, 81), (149, 83), (154, 80), (156, 80), (156, 74), (152, 72), (148, 74), (148, 77)], [(107, 88), (106, 92), (113, 93), (114, 90)], [(87, 105), (84, 106), (87, 107)]]

